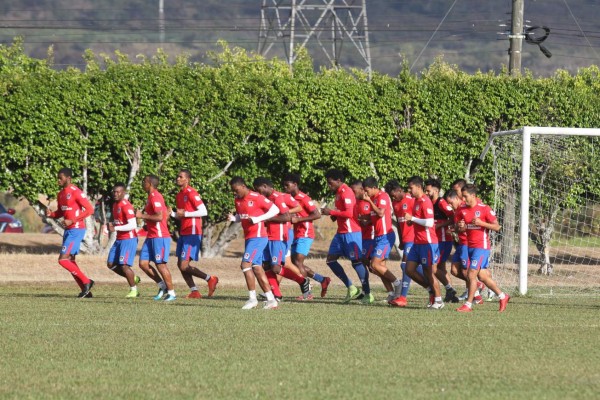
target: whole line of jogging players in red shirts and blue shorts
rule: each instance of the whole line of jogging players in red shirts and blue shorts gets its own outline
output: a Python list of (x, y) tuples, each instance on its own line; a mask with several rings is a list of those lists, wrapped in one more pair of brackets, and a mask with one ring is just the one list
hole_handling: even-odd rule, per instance
[[(85, 276), (75, 262), (79, 245), (85, 234), (84, 219), (93, 208), (80, 189), (71, 183), (72, 172), (61, 169), (58, 183), (58, 210), (48, 211), (51, 218), (63, 218), (65, 227), (59, 264), (73, 275), (81, 288), (79, 297), (91, 297), (94, 281)], [(457, 292), (450, 283), (446, 262), (457, 239), (452, 258), (451, 272), (466, 282), (465, 303), (457, 309), (470, 312), (473, 304), (482, 302), (480, 290), (485, 286), (500, 300), (499, 311), (504, 311), (510, 297), (502, 292), (491, 277), (487, 266), (490, 257), (489, 231), (498, 231), (500, 225), (491, 208), (477, 197), (475, 185), (464, 180), (453, 183), (444, 198), (440, 197), (441, 183), (436, 179), (423, 181), (411, 177), (406, 187), (390, 181), (379, 187), (375, 178), (355, 181), (348, 186), (344, 174), (329, 170), (325, 174), (329, 189), (335, 194), (334, 207), (322, 207), (299, 189), (300, 177), (288, 174), (282, 180), (283, 192), (275, 190), (267, 178), (257, 178), (250, 188), (243, 178), (234, 177), (229, 185), (235, 197), (235, 214), (229, 220), (242, 224), (245, 239), (241, 270), (248, 288), (249, 298), (243, 309), (253, 309), (259, 304), (256, 281), (266, 301), (263, 308), (278, 307), (281, 299), (279, 283), (282, 278), (296, 282), (301, 291), (299, 300), (313, 298), (310, 279), (320, 284), (321, 297), (325, 297), (331, 278), (314, 272), (306, 264), (315, 234), (313, 221), (322, 215), (337, 223), (337, 232), (327, 255), (327, 265), (347, 288), (344, 302), (360, 299), (372, 304), (375, 299), (370, 290), (369, 272), (377, 275), (384, 284), (391, 306), (406, 307), (411, 281), (424, 287), (430, 295), (431, 310), (444, 307), (444, 302), (458, 302)], [(125, 277), (130, 286), (126, 297), (139, 296), (137, 277), (131, 267), (137, 249), (137, 219), (144, 221), (147, 237), (139, 257), (140, 268), (154, 280), (159, 288), (155, 300), (173, 301), (176, 294), (171, 274), (167, 268), (170, 250), (169, 217), (180, 223), (176, 255), (178, 267), (190, 294), (199, 298), (194, 277), (208, 284), (212, 296), (218, 278), (190, 265), (197, 261), (202, 242), (202, 217), (207, 210), (198, 192), (190, 185), (191, 173), (182, 169), (177, 175), (180, 188), (176, 197), (176, 210), (169, 209), (158, 191), (159, 179), (154, 175), (144, 177), (143, 188), (148, 194), (146, 206), (135, 212), (126, 199), (126, 187), (118, 183), (113, 187), (113, 221), (109, 231), (117, 232), (107, 265)], [(402, 277), (387, 266), (392, 247), (396, 243), (392, 215), (397, 220), (400, 248), (402, 250)], [(352, 263), (360, 280), (360, 289), (352, 283), (342, 265), (345, 257)], [(153, 262), (156, 269), (150, 265)], [(158, 270), (158, 271), (157, 271)], [(442, 299), (440, 283), (446, 295)]]

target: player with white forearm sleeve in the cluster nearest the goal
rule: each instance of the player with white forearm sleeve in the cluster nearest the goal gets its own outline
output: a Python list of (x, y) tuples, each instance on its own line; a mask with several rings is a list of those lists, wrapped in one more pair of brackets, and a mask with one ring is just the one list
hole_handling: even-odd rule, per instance
[[(433, 204), (425, 195), (421, 177), (411, 177), (408, 180), (408, 190), (415, 203), (413, 209), (404, 214), (404, 219), (414, 227), (415, 243), (408, 253), (406, 272), (413, 281), (429, 291), (428, 308), (440, 310), (444, 308), (444, 302), (435, 276), (440, 253), (434, 228)], [(419, 264), (423, 267), (425, 277), (417, 272)]]

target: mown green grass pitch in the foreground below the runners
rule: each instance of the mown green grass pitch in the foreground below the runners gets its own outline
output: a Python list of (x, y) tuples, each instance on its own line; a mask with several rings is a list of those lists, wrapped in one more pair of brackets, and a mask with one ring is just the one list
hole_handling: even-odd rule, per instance
[[(246, 292), (127, 301), (124, 285), (0, 285), (0, 398), (573, 399), (600, 393), (598, 298), (514, 298), (463, 315)], [(379, 299), (385, 294), (378, 289)], [(290, 292), (290, 290), (288, 290)], [(181, 292), (183, 294), (183, 292)]]

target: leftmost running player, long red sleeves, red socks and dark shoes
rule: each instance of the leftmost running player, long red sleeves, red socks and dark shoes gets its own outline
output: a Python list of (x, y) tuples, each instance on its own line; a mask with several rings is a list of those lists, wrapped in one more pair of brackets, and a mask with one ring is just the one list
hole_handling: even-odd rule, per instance
[(57, 196), (58, 209), (56, 211), (46, 209), (46, 216), (53, 219), (63, 218), (62, 226), (65, 231), (58, 264), (69, 271), (79, 285), (81, 292), (77, 297), (87, 298), (92, 297), (94, 281), (79, 269), (75, 256), (79, 253), (81, 241), (85, 237), (85, 219), (92, 215), (94, 207), (85, 193), (71, 183), (72, 178), (73, 171), (70, 168), (62, 168), (58, 171), (58, 186), (62, 188)]

